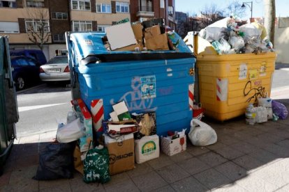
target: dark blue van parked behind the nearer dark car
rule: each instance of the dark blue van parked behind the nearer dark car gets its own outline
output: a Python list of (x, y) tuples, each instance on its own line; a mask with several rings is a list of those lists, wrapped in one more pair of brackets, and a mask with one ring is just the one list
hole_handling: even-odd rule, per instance
[(34, 58), (41, 65), (47, 62), (43, 51), (38, 49), (15, 49), (10, 50), (10, 56), (27, 56), (30, 58)]

